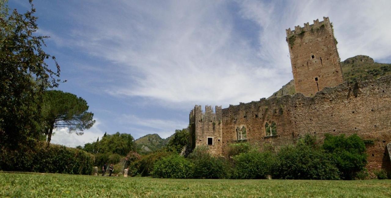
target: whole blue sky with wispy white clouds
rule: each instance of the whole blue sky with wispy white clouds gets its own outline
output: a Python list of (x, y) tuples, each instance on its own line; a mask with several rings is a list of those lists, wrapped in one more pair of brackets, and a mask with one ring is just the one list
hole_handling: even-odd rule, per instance
[[(59, 90), (88, 102), (83, 135), (55, 129), (52, 143), (83, 146), (105, 132), (167, 138), (195, 105), (269, 97), (293, 79), (285, 29), (328, 16), (341, 60), (391, 63), (391, 1), (34, 0), (45, 52), (61, 66)], [(28, 0), (9, 0), (25, 13)]]

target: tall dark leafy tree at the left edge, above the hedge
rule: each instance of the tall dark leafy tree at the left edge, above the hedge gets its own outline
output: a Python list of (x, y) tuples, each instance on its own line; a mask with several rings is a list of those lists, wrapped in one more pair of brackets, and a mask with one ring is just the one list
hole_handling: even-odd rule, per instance
[(60, 81), (56, 58), (42, 49), (48, 36), (35, 33), (31, 0), (30, 5), (19, 14), (16, 9), (9, 13), (6, 2), (0, 2), (0, 144), (13, 148), (39, 139), (41, 96)]

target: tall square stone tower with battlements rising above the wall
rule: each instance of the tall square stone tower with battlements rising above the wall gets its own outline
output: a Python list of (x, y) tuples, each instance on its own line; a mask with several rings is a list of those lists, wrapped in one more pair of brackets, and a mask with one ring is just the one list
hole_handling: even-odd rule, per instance
[(337, 41), (328, 17), (286, 32), (296, 93), (312, 96), (343, 83)]

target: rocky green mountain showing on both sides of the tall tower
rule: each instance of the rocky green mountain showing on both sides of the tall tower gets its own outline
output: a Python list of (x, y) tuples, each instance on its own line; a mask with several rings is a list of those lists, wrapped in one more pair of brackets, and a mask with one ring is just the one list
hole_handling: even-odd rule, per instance
[[(349, 82), (353, 82), (354, 79), (366, 80), (391, 75), (391, 64), (376, 63), (371, 57), (364, 55), (358, 55), (344, 60), (341, 62), (341, 68), (345, 81)], [(281, 97), (283, 95), (293, 95), (295, 93), (294, 80), (291, 80), (267, 99)]]

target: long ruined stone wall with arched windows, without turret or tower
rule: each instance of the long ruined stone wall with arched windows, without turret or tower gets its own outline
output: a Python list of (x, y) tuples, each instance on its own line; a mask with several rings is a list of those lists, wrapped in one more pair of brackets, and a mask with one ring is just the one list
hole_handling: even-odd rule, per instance
[[(273, 121), (277, 135), (267, 137), (265, 122)], [(222, 150), (215, 151), (215, 155), (228, 157), (228, 145), (238, 142), (237, 126), (246, 126), (248, 142), (261, 147), (268, 143), (277, 148), (294, 144), (306, 133), (321, 140), (325, 133), (357, 133), (364, 140), (375, 142), (367, 146), (368, 169), (390, 170), (386, 144), (391, 142), (391, 76), (343, 83), (325, 88), (314, 97), (285, 95), (222, 109)]]

